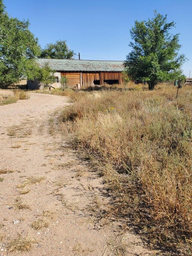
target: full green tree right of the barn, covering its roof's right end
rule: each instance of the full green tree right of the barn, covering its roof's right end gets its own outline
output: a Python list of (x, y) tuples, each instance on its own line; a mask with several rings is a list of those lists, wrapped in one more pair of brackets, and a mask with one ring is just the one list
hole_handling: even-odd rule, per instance
[(172, 35), (170, 30), (174, 22), (167, 22), (163, 16), (154, 11), (154, 18), (148, 21), (135, 21), (130, 30), (132, 51), (126, 56), (125, 67), (133, 79), (146, 81), (149, 90), (159, 82), (182, 79), (181, 65), (185, 55), (179, 54), (179, 34)]

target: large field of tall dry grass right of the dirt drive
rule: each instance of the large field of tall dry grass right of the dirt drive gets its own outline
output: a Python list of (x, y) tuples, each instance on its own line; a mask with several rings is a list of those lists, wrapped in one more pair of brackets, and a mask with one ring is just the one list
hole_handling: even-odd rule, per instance
[(192, 89), (179, 89), (176, 100), (171, 85), (131, 86), (77, 93), (61, 128), (103, 176), (113, 195), (107, 214), (130, 219), (149, 243), (190, 254)]

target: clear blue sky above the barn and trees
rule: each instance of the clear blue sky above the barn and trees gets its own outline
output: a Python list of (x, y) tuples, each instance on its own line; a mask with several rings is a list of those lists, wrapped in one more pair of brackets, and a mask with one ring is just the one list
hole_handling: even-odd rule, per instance
[(29, 19), (42, 47), (67, 40), (81, 59), (108, 60), (125, 60), (134, 20), (147, 20), (157, 9), (176, 22), (172, 31), (181, 34), (180, 52), (189, 59), (183, 70), (187, 76), (191, 70), (192, 75), (191, 0), (4, 0), (4, 5), (12, 17)]

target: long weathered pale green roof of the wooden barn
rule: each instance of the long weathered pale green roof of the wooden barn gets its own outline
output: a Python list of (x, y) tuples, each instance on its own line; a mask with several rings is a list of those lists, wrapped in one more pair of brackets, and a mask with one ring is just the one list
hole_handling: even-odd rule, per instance
[(45, 62), (55, 71), (103, 71), (121, 72), (124, 61), (77, 60), (77, 59), (37, 59), (40, 67)]

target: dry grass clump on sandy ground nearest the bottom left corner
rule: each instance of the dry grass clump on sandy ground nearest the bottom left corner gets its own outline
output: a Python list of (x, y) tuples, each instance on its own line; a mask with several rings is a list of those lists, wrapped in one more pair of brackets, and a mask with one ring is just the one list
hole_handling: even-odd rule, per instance
[(16, 239), (12, 239), (7, 244), (8, 252), (22, 252), (22, 251), (30, 251), (32, 245), (37, 243), (38, 241), (31, 236), (22, 236), (18, 233), (18, 237)]

